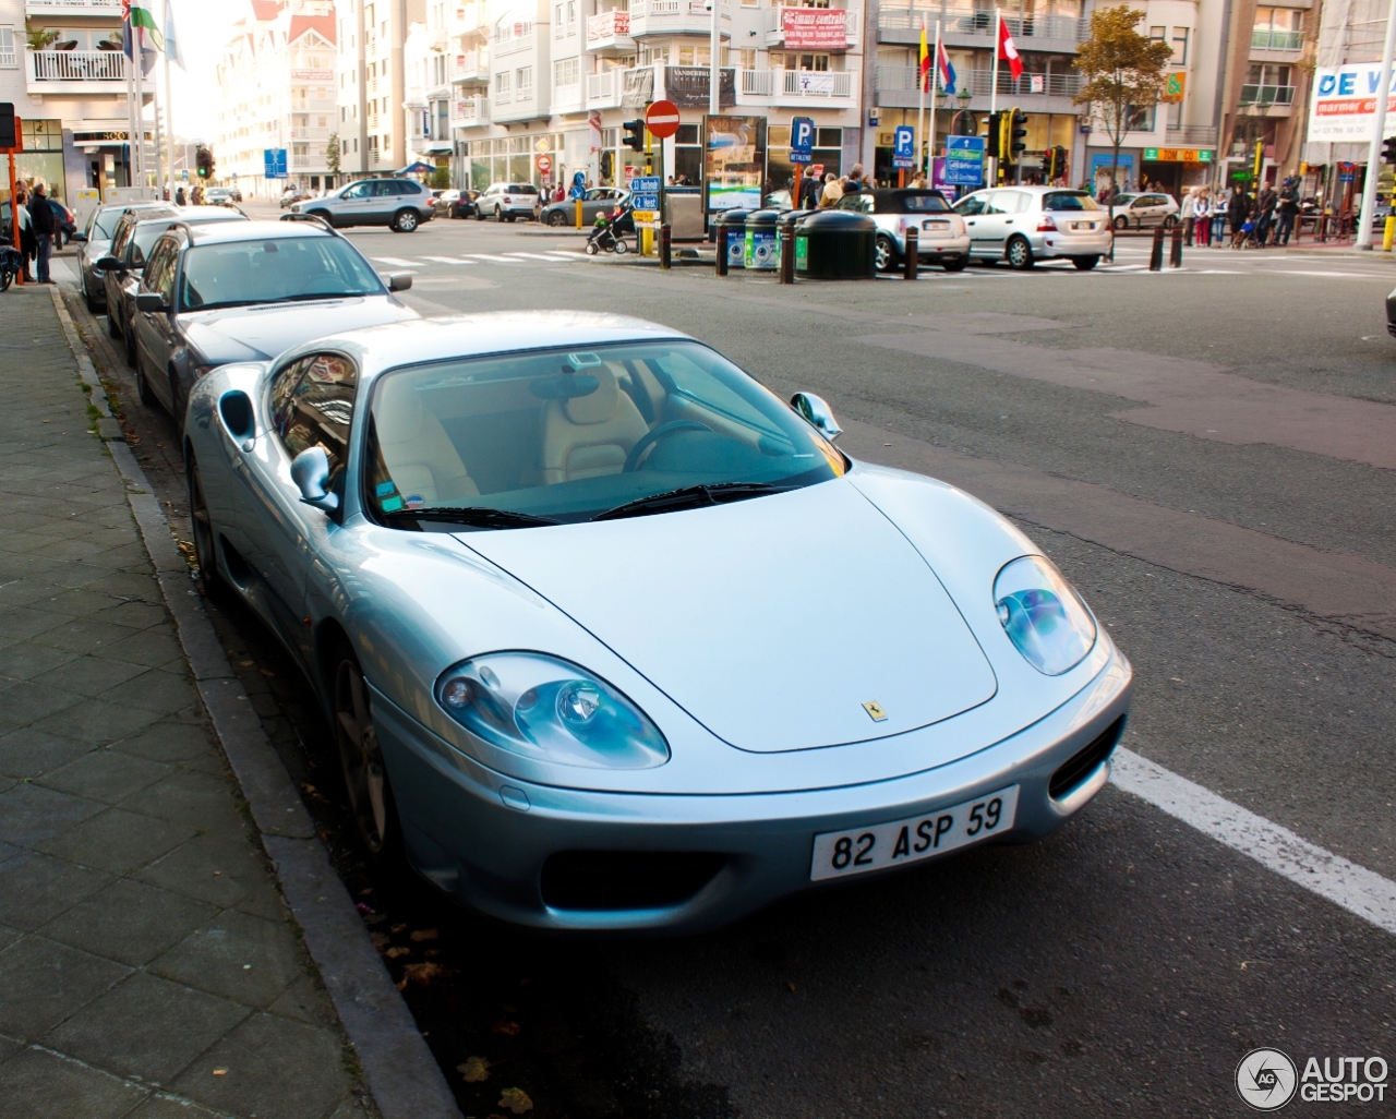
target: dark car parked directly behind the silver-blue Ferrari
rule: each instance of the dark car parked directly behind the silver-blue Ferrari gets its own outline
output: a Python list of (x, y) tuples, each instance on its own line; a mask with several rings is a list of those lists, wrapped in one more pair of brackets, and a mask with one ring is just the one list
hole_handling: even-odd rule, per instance
[(416, 318), (364, 255), (321, 222), (168, 226), (133, 297), (135, 385), (184, 426), (194, 382), (229, 361), (265, 361), (356, 326)]

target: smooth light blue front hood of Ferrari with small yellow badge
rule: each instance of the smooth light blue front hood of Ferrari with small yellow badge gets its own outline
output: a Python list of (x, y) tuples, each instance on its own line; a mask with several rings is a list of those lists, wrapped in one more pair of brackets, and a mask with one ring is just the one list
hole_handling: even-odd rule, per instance
[(885, 738), (998, 686), (935, 572), (847, 480), (456, 539), (740, 749)]

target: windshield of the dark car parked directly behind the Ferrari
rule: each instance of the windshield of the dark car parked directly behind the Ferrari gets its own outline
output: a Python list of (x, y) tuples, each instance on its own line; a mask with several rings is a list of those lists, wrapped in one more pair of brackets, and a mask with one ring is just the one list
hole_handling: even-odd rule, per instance
[(383, 294), (383, 282), (339, 237), (202, 244), (184, 254), (180, 308)]

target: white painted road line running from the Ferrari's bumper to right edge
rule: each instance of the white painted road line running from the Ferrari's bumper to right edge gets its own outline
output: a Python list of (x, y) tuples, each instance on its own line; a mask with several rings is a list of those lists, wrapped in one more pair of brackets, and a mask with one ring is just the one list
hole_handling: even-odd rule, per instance
[(1396, 882), (1325, 851), (1132, 751), (1115, 751), (1110, 780), (1297, 886), (1396, 933)]

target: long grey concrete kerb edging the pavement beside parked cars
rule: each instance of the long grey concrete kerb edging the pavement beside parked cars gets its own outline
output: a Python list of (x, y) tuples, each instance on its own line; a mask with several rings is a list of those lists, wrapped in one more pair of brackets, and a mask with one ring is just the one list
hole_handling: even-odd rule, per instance
[[(461, 1119), (445, 1077), (359, 919), (353, 899), (329, 864), (329, 854), (315, 836), (314, 822), (290, 774), (223, 656), (165, 513), (112, 419), (106, 391), (57, 289), (53, 304), (78, 373), (92, 389), (92, 405), (102, 414), (99, 434), (107, 441), (116, 469), (126, 481), (131, 513), (155, 565), (161, 594), (174, 617), (204, 706), (251, 808), (262, 847), (276, 868), (286, 904), (359, 1055), (378, 1112), (383, 1119)], [(116, 435), (106, 434), (103, 420)]]

